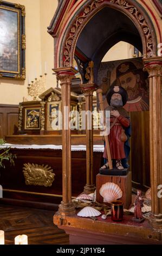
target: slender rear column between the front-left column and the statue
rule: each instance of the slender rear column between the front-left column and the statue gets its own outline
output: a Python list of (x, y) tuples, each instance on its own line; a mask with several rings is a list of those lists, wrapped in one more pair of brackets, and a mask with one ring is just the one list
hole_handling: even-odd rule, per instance
[[(82, 92), (86, 97), (86, 112), (93, 111), (93, 93), (96, 89), (94, 84), (83, 84)], [(88, 120), (88, 118), (90, 118)], [(91, 129), (88, 130), (87, 124), (91, 122)], [(93, 180), (93, 115), (86, 115), (86, 159), (87, 159), (87, 183), (84, 188), (84, 192), (90, 194), (95, 191), (95, 185)]]

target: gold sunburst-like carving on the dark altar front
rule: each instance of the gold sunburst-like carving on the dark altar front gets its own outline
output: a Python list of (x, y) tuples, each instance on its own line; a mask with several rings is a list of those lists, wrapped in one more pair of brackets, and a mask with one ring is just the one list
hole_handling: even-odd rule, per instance
[(53, 169), (44, 164), (24, 163), (23, 173), (26, 185), (51, 187), (55, 179)]

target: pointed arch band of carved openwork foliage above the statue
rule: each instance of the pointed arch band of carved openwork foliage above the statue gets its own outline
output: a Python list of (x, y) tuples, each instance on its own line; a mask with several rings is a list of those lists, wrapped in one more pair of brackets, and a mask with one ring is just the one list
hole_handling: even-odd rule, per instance
[[(85, 20), (88, 20), (88, 16), (91, 15), (92, 11), (98, 9), (103, 2), (105, 2), (105, 0), (93, 0), (92, 3), (85, 7), (81, 15), (77, 17), (72, 27), (70, 27), (70, 31), (63, 50), (63, 66), (69, 66), (70, 64), (70, 52), (74, 47), (73, 41), (75, 38), (77, 38), (77, 34), (80, 30), (80, 27), (82, 27), (82, 23)], [(151, 35), (151, 29), (149, 28), (145, 17), (140, 13), (140, 11), (126, 0), (107, 0), (107, 2), (111, 3), (111, 6), (114, 5), (114, 8), (116, 5), (119, 5), (120, 8), (127, 10), (127, 12), (133, 16), (133, 19), (137, 20), (139, 26), (142, 29), (142, 34), (146, 40), (147, 56), (144, 57), (153, 57), (153, 38)]]

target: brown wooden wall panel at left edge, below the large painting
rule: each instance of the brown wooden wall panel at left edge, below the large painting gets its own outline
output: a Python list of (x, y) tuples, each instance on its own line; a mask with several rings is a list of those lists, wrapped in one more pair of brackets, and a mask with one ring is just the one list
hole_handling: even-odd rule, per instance
[(0, 137), (16, 134), (18, 130), (18, 105), (0, 105)]

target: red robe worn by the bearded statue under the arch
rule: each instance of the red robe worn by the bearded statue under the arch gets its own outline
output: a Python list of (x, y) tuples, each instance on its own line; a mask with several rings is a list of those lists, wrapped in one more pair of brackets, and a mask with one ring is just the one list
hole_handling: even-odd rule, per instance
[[(110, 118), (110, 124), (114, 122), (115, 118)], [(115, 125), (112, 127), (109, 133), (109, 144), (111, 149), (111, 157), (115, 160), (125, 159), (124, 142), (121, 141), (121, 130), (129, 127), (130, 121), (128, 118), (120, 116), (117, 118)], [(103, 157), (107, 159), (106, 147), (103, 153)]]

